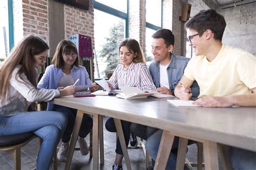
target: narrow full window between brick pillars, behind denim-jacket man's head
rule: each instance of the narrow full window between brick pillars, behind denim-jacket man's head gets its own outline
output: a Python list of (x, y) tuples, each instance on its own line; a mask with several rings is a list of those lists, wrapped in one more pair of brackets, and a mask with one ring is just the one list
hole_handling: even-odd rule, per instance
[(161, 29), (162, 0), (146, 0), (146, 64), (154, 61), (151, 53), (152, 34)]

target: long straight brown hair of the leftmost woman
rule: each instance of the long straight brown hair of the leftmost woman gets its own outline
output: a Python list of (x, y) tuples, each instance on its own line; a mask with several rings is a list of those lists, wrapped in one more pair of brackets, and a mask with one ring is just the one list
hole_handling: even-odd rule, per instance
[(46, 49), (49, 49), (46, 42), (41, 38), (32, 35), (24, 37), (14, 48), (12, 48), (8, 58), (6, 58), (0, 66), (0, 94), (2, 102), (4, 101), (9, 88), (11, 74), (18, 65), (21, 65), (21, 69), (19, 69), (16, 75), (16, 80), (17, 76), (21, 76), (21, 74), (24, 73), (31, 84), (36, 87), (34, 55), (43, 53)]

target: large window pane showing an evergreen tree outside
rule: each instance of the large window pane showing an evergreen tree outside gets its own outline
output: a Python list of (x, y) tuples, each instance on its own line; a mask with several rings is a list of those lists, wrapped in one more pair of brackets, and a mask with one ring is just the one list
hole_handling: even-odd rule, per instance
[(125, 20), (96, 10), (95, 78), (106, 77), (119, 63), (118, 46), (125, 39)]

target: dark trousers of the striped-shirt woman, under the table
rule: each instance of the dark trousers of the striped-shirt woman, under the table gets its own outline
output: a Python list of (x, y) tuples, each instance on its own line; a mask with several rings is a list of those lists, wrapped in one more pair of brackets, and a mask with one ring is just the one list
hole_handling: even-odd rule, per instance
[[(121, 121), (121, 124), (122, 124), (123, 132), (124, 132), (125, 144), (127, 147), (129, 144), (129, 140), (130, 140), (130, 124), (131, 124), (131, 122)], [(112, 117), (107, 119), (105, 127), (106, 127), (107, 131), (117, 132), (116, 125), (114, 125), (114, 119)], [(123, 151), (122, 151), (122, 147), (121, 147), (119, 138), (117, 138), (116, 153), (123, 155)]]

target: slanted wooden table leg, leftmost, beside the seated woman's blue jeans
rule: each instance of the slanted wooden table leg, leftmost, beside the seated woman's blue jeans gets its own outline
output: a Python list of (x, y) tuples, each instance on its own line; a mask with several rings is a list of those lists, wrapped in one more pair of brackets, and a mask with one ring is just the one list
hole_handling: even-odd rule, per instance
[(69, 170), (69, 168), (70, 168), (70, 164), (71, 164), (73, 153), (74, 153), (74, 150), (76, 147), (77, 137), (78, 137), (78, 133), (80, 130), (83, 116), (84, 116), (83, 111), (77, 110), (77, 116), (76, 116), (76, 121), (75, 121), (73, 133), (72, 133), (72, 137), (71, 137), (71, 141), (70, 141), (68, 158), (66, 159), (65, 170)]

